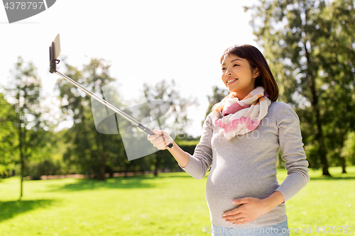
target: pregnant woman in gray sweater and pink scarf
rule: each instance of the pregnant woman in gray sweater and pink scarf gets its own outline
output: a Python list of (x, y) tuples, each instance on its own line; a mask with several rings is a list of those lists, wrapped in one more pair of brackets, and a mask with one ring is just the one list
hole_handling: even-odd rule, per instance
[[(289, 235), (285, 202), (310, 180), (300, 120), (278, 99), (265, 57), (251, 45), (232, 46), (221, 57), (222, 82), (230, 93), (215, 104), (193, 155), (168, 133), (148, 140), (169, 150), (195, 179), (210, 169), (206, 199), (212, 235)], [(173, 148), (166, 147), (173, 143)], [(281, 150), (288, 176), (276, 179)]]

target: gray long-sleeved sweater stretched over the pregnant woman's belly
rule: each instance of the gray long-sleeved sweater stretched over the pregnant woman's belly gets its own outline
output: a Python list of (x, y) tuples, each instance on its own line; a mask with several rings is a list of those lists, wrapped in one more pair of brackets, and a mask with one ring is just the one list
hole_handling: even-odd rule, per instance
[[(195, 153), (182, 168), (195, 179), (204, 178), (210, 169), (206, 200), (211, 223), (223, 227), (262, 227), (287, 220), (285, 203), (243, 225), (226, 223), (222, 215), (237, 207), (231, 203), (236, 198), (266, 198), (277, 190), (288, 201), (310, 180), (295, 111), (287, 103), (273, 102), (268, 115), (252, 132), (231, 140), (226, 140), (222, 132), (213, 124), (210, 113)], [(276, 179), (279, 149), (288, 171), (281, 185)]]

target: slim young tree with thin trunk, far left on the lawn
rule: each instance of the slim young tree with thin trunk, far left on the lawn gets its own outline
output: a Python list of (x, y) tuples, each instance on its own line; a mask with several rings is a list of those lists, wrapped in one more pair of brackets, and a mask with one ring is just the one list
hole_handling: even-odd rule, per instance
[[(6, 89), (8, 101), (16, 111), (13, 123), (18, 138), (18, 153), (21, 164), (21, 193), (23, 196), (23, 174), (26, 163), (35, 152), (38, 152), (41, 138), (37, 130), (47, 129), (40, 119), (40, 79), (32, 62), (25, 63), (21, 57), (12, 72), (13, 83)], [(16, 142), (15, 142), (16, 143)]]

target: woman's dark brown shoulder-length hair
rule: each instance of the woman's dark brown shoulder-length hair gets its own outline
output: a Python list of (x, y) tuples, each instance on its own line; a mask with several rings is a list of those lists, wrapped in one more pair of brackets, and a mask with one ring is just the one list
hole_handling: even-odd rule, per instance
[(266, 62), (265, 57), (258, 50), (258, 48), (252, 45), (231, 46), (223, 52), (221, 57), (221, 64), (224, 58), (229, 55), (235, 55), (237, 57), (248, 60), (251, 67), (251, 72), (253, 72), (253, 69), (258, 68), (259, 76), (256, 77), (255, 86), (263, 86), (265, 92), (268, 94), (268, 98), (271, 101), (278, 100), (278, 84), (273, 77), (273, 73), (268, 66), (268, 62)]

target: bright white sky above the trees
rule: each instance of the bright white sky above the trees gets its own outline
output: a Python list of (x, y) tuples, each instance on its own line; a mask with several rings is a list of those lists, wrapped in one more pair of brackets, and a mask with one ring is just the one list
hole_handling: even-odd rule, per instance
[[(193, 122), (187, 133), (196, 137), (202, 132), (212, 87), (224, 88), (219, 64), (224, 50), (242, 44), (258, 47), (250, 13), (242, 7), (256, 3), (58, 0), (46, 11), (11, 24), (0, 6), (0, 84), (11, 82), (10, 70), (18, 56), (33, 62), (47, 103), (58, 104), (49, 115), (57, 119), (60, 110), (55, 82), (59, 77), (49, 72), (48, 47), (59, 33), (59, 59), (65, 56), (78, 68), (91, 58), (107, 60), (124, 99), (133, 94), (143, 96), (143, 83), (174, 79), (181, 96), (192, 96), (199, 103), (188, 115)], [(71, 124), (69, 120), (58, 127)]]

